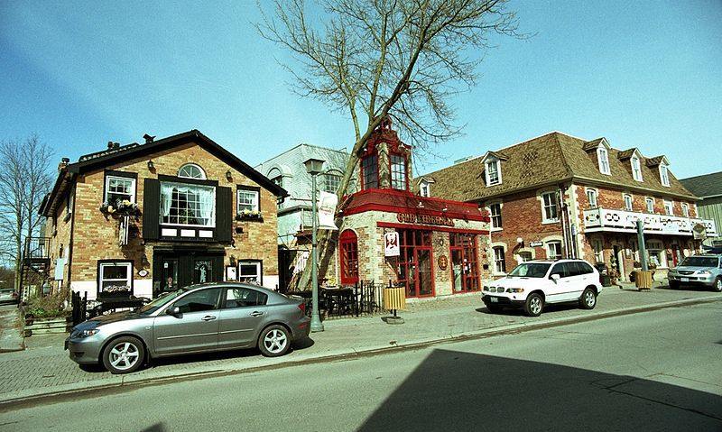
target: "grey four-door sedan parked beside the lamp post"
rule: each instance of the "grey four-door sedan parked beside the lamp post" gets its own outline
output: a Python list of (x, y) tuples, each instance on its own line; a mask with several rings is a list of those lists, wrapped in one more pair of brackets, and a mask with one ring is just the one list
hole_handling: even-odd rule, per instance
[(257, 346), (286, 354), (308, 337), (301, 299), (239, 282), (212, 282), (172, 291), (133, 311), (88, 319), (70, 331), (65, 347), (79, 364), (113, 373), (137, 371), (146, 360)]

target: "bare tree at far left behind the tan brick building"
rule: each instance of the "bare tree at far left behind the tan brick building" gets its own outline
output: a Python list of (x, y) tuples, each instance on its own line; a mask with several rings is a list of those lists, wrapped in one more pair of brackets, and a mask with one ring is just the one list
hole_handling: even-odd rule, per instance
[(42, 225), (38, 210), (51, 188), (51, 157), (51, 148), (34, 134), (24, 142), (0, 142), (0, 253), (14, 264), (16, 289), (24, 240)]

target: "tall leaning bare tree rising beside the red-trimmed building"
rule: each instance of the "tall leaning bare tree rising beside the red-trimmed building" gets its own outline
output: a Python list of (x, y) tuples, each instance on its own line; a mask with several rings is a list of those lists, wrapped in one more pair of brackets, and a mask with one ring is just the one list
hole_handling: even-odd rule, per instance
[(301, 68), (285, 65), (297, 94), (350, 115), (355, 142), (339, 202), (358, 152), (384, 118), (417, 151), (430, 152), (460, 132), (451, 100), (476, 82), (488, 37), (519, 36), (507, 0), (319, 1), (309, 14), (303, 0), (274, 0), (258, 30), (300, 61)]

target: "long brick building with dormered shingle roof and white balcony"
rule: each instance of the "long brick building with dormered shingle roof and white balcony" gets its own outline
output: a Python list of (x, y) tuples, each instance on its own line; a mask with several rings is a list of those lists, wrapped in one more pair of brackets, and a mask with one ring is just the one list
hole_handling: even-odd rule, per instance
[(489, 212), (494, 276), (517, 262), (579, 257), (625, 280), (640, 265), (637, 219), (661, 269), (717, 233), (714, 221), (698, 218), (699, 198), (669, 165), (665, 156), (616, 150), (605, 138), (553, 132), (421, 176), (415, 188)]

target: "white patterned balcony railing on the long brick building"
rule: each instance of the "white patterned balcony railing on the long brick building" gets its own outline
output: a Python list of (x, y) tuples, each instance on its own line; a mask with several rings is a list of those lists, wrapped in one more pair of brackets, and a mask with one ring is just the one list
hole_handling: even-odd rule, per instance
[[(717, 236), (717, 226), (711, 219), (653, 215), (601, 207), (584, 210), (584, 229), (587, 233), (636, 233), (636, 223), (640, 219), (644, 222), (644, 234)], [(704, 230), (701, 229), (702, 226)]]

